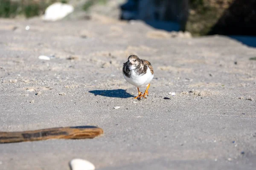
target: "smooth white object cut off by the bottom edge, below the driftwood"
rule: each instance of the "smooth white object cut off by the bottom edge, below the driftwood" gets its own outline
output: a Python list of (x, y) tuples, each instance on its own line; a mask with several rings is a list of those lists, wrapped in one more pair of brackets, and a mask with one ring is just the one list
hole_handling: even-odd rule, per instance
[(70, 167), (72, 170), (95, 170), (95, 166), (84, 159), (72, 159), (70, 161)]

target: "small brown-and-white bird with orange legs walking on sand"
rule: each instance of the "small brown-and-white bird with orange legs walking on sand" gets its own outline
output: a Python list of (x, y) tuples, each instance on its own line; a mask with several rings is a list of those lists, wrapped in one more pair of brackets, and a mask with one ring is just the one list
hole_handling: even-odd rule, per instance
[[(137, 55), (131, 55), (128, 57), (128, 61), (123, 64), (122, 72), (126, 81), (138, 89), (139, 95), (134, 97), (134, 99), (138, 97), (146, 98), (145, 95), (148, 96), (148, 88), (154, 77), (154, 70), (151, 63), (145, 59), (140, 59)], [(147, 87), (144, 94), (139, 89), (143, 87)]]

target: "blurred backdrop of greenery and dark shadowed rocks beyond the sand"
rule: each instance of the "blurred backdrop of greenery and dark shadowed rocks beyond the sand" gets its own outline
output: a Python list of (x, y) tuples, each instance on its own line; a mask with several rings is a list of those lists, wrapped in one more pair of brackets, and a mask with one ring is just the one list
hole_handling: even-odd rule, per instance
[[(256, 47), (256, 0), (0, 0), (0, 17), (26, 19), (62, 12), (62, 20), (90, 20), (101, 14), (116, 20), (143, 20), (166, 31), (188, 31), (193, 37), (221, 34)], [(50, 20), (50, 19), (49, 19)]]

